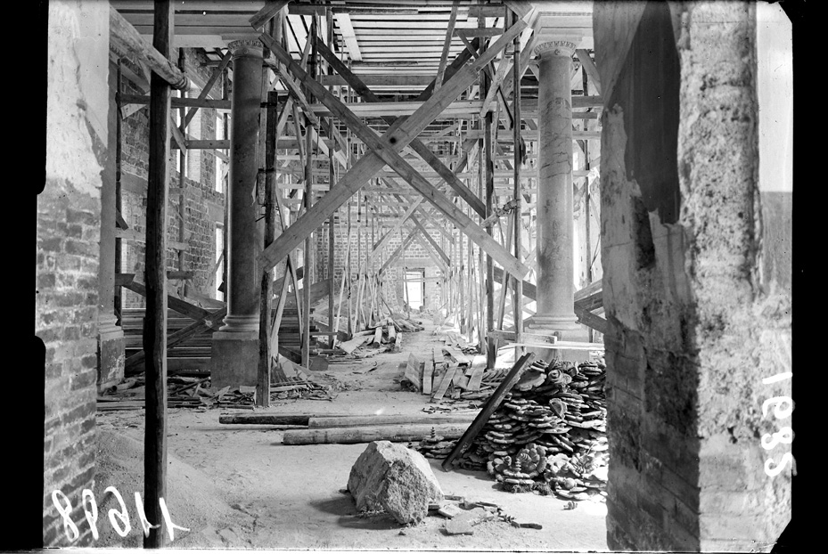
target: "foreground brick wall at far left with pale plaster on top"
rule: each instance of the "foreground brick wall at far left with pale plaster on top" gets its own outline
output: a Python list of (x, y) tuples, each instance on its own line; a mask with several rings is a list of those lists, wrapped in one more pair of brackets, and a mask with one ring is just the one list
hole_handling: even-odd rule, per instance
[[(46, 182), (37, 198), (35, 333), (45, 343), (43, 544), (84, 546), (94, 477), (98, 241), (107, 151), (109, 4), (49, 4)], [(81, 64), (80, 61), (83, 61)], [(52, 501), (65, 494), (70, 542)]]

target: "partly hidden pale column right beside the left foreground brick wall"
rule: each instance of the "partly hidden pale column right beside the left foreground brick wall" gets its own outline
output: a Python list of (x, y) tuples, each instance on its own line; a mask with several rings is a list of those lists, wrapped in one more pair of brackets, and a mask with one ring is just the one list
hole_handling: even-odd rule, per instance
[(115, 156), (118, 141), (118, 108), (115, 104), (115, 72), (110, 71), (107, 118), (107, 157), (101, 186), (101, 239), (98, 265), (98, 387), (111, 387), (124, 378), (124, 330), (115, 323)]

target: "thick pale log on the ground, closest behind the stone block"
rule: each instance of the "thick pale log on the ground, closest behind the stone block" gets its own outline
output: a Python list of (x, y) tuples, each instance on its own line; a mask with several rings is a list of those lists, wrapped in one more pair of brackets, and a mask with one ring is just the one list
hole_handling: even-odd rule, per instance
[(429, 436), (431, 429), (447, 440), (458, 438), (466, 429), (464, 423), (439, 425), (376, 425), (373, 427), (314, 428), (285, 431), (283, 444), (359, 444), (373, 441), (405, 443)]

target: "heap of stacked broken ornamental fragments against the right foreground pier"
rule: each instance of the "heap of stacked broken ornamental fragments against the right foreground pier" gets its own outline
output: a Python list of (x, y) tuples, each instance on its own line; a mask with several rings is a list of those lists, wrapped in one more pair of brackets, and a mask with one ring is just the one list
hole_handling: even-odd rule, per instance
[[(504, 490), (586, 500), (606, 496), (603, 362), (536, 361), (504, 395), (459, 467), (486, 470)], [(424, 437), (423, 455), (443, 458), (454, 441)]]

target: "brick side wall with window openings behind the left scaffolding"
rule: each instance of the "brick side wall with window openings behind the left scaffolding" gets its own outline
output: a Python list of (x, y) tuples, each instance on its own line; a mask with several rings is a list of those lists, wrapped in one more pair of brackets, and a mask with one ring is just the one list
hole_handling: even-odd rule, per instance
[[(174, 53), (177, 59), (177, 51)], [(191, 96), (198, 94), (199, 81), (203, 83), (209, 78), (209, 67), (201, 67), (205, 61), (201, 53), (194, 49), (184, 49), (184, 66), (188, 74), (196, 77), (196, 90)], [(122, 58), (124, 66), (133, 73), (140, 74), (135, 63), (128, 57)], [(142, 84), (124, 78), (122, 80), (125, 94), (144, 94)], [(114, 94), (114, 91), (111, 91)], [(220, 98), (221, 86), (217, 83), (211, 89), (209, 98)], [(190, 125), (187, 134), (193, 139), (224, 138), (216, 136), (217, 114), (219, 110), (199, 109)], [(130, 229), (136, 232), (146, 232), (146, 189), (147, 163), (149, 160), (149, 107), (143, 106), (122, 120), (122, 160), (121, 160), (121, 215), (127, 221)], [(216, 226), (224, 222), (225, 195), (216, 191), (217, 167), (215, 151), (187, 151), (186, 171), (184, 177), (184, 261), (182, 269), (194, 273), (194, 278), (186, 284), (187, 289), (195, 289), (201, 294), (214, 297), (216, 277), (213, 267), (216, 265)], [(179, 241), (179, 175), (177, 151), (170, 154), (170, 192), (168, 203), (168, 233), (167, 239)], [(135, 273), (135, 280), (143, 282), (144, 245), (135, 240), (122, 240), (122, 273)], [(178, 250), (168, 248), (168, 270), (177, 270)], [(171, 294), (184, 296), (184, 281), (168, 281)], [(145, 300), (130, 290), (122, 291), (122, 306), (125, 308), (140, 308), (145, 306)]]

